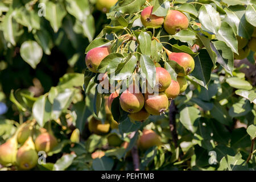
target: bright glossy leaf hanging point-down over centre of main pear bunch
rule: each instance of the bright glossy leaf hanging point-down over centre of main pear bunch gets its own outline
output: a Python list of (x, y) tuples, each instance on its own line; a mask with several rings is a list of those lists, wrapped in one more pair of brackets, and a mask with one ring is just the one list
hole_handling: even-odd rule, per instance
[(155, 64), (152, 59), (147, 55), (141, 55), (141, 59), (139, 60), (139, 64), (141, 65), (141, 73), (142, 77), (147, 79), (148, 84), (150, 84), (151, 88), (155, 87)]

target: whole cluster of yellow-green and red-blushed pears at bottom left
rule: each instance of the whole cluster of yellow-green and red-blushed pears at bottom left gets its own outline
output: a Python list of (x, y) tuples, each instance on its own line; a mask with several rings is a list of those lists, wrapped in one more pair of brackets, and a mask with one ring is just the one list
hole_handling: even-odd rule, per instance
[(49, 132), (32, 137), (34, 122), (23, 123), (16, 133), (0, 145), (0, 164), (16, 166), (21, 170), (32, 169), (38, 163), (38, 151), (50, 151), (56, 146), (56, 138)]

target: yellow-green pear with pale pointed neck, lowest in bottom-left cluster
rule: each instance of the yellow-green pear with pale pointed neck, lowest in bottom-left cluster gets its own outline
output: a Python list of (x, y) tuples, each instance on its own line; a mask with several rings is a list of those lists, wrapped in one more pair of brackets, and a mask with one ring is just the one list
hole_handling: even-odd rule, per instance
[(20, 169), (32, 169), (38, 163), (38, 153), (35, 150), (35, 144), (32, 137), (28, 137), (26, 142), (21, 146), (16, 156), (17, 166)]

